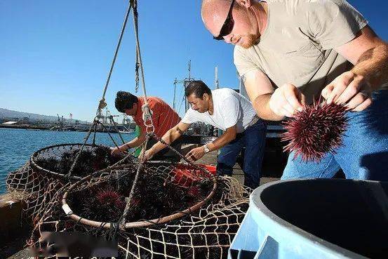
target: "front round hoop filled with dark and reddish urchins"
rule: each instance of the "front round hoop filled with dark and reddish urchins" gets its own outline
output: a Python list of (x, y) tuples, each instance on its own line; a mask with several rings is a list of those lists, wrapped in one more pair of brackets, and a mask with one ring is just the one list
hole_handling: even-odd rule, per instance
[(84, 178), (71, 185), (63, 196), (62, 208), (80, 223), (112, 227), (109, 222), (119, 220), (123, 214), (136, 173), (139, 178), (125, 218), (126, 228), (181, 218), (210, 199), (220, 199), (222, 192), (218, 192), (220, 186), (215, 175), (200, 166), (146, 163), (138, 172), (138, 166), (126, 164), (109, 168), (100, 177)]

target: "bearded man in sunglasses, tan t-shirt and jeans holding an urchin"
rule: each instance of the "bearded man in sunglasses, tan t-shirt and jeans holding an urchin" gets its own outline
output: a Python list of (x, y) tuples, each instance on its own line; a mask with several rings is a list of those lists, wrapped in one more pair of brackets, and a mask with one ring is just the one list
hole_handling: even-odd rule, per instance
[(345, 105), (349, 127), (337, 154), (293, 160), (288, 178), (388, 180), (388, 45), (344, 0), (203, 0), (214, 39), (234, 47), (234, 64), (262, 119), (293, 117), (320, 95)]

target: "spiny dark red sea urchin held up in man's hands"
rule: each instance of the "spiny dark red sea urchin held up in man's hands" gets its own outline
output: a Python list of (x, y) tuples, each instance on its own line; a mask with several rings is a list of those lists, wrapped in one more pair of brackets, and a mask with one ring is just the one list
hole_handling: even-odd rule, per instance
[(294, 151), (294, 157), (302, 156), (303, 161), (319, 162), (323, 156), (342, 145), (342, 134), (347, 128), (345, 116), (347, 108), (334, 102), (315, 101), (297, 112), (293, 119), (283, 123), (286, 133), (282, 141), (290, 141), (283, 151)]

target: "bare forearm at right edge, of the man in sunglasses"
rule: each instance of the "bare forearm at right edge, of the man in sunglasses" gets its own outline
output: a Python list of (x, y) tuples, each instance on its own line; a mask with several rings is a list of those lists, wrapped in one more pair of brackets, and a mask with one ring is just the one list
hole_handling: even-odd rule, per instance
[(388, 82), (388, 44), (382, 43), (365, 51), (352, 72), (365, 77), (372, 90), (377, 90)]

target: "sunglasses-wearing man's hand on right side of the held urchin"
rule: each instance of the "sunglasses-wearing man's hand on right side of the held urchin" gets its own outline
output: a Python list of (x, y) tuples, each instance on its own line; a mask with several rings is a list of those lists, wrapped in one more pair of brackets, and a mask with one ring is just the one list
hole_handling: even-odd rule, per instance
[(322, 90), (327, 103), (345, 105), (354, 112), (360, 112), (372, 104), (372, 90), (366, 79), (352, 71), (344, 72)]

